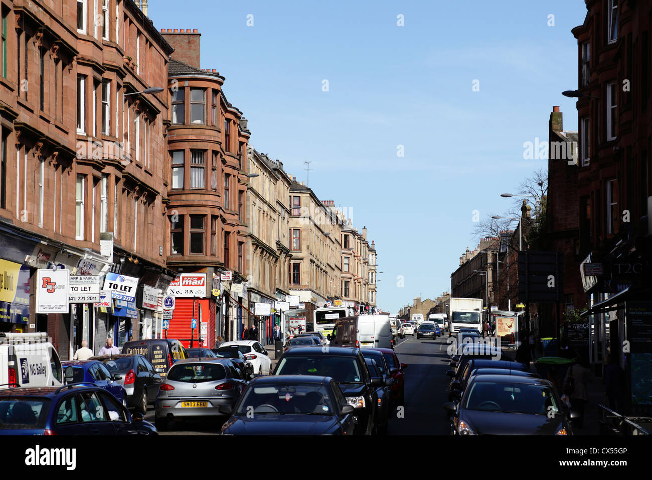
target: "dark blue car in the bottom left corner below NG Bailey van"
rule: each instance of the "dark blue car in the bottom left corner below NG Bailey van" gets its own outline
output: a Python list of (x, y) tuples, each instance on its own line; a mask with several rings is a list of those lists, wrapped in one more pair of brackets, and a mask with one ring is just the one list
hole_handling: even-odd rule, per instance
[(0, 391), (0, 435), (158, 435), (105, 389), (89, 383)]

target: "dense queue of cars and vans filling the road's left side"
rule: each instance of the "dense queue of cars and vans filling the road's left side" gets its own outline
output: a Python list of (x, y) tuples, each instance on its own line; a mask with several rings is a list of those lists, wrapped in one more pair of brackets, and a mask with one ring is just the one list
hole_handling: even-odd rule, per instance
[(134, 340), (121, 351), (107, 342), (100, 355), (80, 349), (61, 362), (44, 336), (29, 335), (3, 338), (0, 435), (156, 435), (188, 419), (218, 421), (224, 435), (385, 434), (405, 398), (407, 365), (387, 315), (340, 318), (327, 338), (297, 336), (274, 369), (256, 340), (215, 349)]

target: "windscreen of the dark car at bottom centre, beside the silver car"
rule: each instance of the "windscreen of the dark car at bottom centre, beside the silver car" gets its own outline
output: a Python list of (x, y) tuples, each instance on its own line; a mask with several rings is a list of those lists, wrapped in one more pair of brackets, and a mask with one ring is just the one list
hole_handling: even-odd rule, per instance
[(325, 385), (288, 383), (248, 388), (235, 414), (255, 416), (265, 413), (334, 415), (335, 410)]

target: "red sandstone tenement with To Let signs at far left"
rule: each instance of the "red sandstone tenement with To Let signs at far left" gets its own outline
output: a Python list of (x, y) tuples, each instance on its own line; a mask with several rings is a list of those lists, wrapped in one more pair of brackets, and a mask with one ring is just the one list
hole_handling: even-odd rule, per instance
[[(172, 48), (132, 0), (0, 9), (0, 268), (20, 278), (0, 298), (0, 329), (47, 331), (61, 359), (82, 340), (96, 351), (107, 334), (118, 345), (151, 336), (143, 289), (149, 298), (175, 276), (161, 240), (170, 117), (166, 89), (139, 92), (166, 86)], [(113, 249), (102, 255), (106, 233)], [(35, 272), (53, 265), (138, 278), (138, 293), (37, 315)]]

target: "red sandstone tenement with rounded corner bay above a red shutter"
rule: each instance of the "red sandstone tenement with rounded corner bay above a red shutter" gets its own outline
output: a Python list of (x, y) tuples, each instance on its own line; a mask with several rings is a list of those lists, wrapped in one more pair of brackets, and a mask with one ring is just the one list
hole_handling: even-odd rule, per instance
[[(239, 336), (243, 308), (248, 308), (243, 283), (249, 179), (244, 170), (250, 133), (242, 112), (222, 91), (224, 76), (200, 69), (200, 33), (161, 29), (161, 35), (175, 48), (168, 71), (167, 263), (207, 282), (201, 298), (177, 293), (168, 335), (190, 338), (187, 319), (196, 318), (207, 325), (203, 346), (213, 347), (216, 336)], [(232, 280), (222, 284), (220, 296), (212, 295), (213, 278), (217, 288), (227, 271)]]

